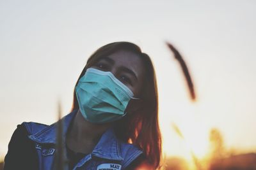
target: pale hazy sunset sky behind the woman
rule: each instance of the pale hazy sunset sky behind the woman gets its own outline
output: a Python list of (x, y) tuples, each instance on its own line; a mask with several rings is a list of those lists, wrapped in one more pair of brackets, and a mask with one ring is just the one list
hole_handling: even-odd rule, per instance
[[(58, 101), (69, 113), (86, 60), (114, 41), (136, 43), (154, 62), (166, 155), (204, 156), (212, 128), (227, 148), (256, 152), (255, 7), (253, 0), (0, 1), (0, 157), (18, 124), (52, 124)], [(166, 41), (188, 64), (195, 103)]]

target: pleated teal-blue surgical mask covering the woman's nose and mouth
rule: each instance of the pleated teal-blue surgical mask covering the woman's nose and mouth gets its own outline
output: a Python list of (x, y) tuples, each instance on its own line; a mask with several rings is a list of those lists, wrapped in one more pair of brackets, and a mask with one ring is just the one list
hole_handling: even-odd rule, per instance
[(98, 124), (124, 117), (129, 101), (138, 99), (111, 72), (94, 68), (86, 70), (75, 90), (83, 117)]

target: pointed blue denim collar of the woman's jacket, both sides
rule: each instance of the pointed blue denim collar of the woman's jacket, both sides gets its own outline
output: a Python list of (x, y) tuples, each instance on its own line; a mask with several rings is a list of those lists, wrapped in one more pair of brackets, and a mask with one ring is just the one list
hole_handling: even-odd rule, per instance
[[(61, 118), (61, 121), (63, 121), (63, 143), (65, 143), (68, 126), (72, 122), (76, 113), (77, 110), (74, 110), (67, 116)], [(30, 135), (29, 138), (35, 141), (36, 143), (56, 145), (57, 129), (58, 122), (48, 127), (45, 127), (44, 129), (42, 129), (42, 131)], [(109, 128), (106, 132), (104, 132), (104, 134), (102, 134), (99, 142), (92, 151), (92, 155), (94, 155), (95, 157), (100, 157), (102, 159), (124, 160), (120, 152), (120, 143), (118, 142), (118, 139), (115, 136), (113, 128)]]

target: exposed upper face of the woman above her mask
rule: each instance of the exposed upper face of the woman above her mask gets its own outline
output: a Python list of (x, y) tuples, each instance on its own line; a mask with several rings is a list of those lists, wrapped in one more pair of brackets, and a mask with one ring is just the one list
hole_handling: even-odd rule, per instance
[(134, 97), (140, 97), (145, 77), (145, 67), (139, 55), (120, 50), (102, 57), (92, 67), (102, 71), (110, 71), (132, 91)]

